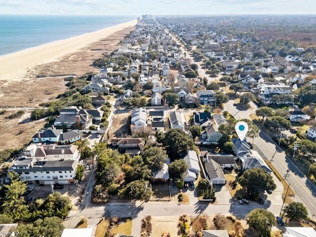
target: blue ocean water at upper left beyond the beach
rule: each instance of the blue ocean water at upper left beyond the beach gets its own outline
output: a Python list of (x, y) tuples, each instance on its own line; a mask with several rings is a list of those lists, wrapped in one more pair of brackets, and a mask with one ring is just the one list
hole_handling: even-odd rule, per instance
[(0, 15), (0, 55), (115, 26), (137, 16)]

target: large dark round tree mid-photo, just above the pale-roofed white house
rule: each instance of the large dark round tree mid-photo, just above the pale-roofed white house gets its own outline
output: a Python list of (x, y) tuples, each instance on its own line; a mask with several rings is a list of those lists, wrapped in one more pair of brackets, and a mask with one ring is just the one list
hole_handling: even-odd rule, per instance
[(172, 158), (180, 158), (181, 154), (185, 154), (195, 148), (190, 136), (179, 128), (170, 129), (166, 132), (163, 145), (169, 157)]

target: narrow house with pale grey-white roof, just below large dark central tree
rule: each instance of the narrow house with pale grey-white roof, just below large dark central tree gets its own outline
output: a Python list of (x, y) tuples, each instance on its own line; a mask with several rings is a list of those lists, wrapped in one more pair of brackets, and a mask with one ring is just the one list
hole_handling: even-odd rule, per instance
[(184, 181), (185, 182), (196, 181), (197, 176), (200, 171), (197, 153), (195, 151), (189, 150), (187, 155), (183, 158), (183, 160), (186, 162), (188, 166), (188, 170), (186, 174), (184, 175), (185, 176)]

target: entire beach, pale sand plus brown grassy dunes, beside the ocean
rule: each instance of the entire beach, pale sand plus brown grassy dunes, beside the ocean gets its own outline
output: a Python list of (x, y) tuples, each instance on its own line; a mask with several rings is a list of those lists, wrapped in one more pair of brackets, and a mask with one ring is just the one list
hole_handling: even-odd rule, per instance
[[(27, 144), (46, 123), (30, 119), (33, 108), (65, 92), (65, 77), (97, 73), (93, 61), (118, 49), (135, 25), (136, 20), (0, 56), (0, 151)], [(17, 111), (24, 115), (7, 118)]]

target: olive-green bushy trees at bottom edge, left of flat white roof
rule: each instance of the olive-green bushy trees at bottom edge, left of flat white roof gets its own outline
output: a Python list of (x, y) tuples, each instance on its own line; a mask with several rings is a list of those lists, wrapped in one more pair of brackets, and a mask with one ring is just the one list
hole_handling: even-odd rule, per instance
[(63, 220), (58, 217), (39, 219), (34, 224), (20, 224), (15, 229), (23, 237), (60, 237), (63, 233)]

